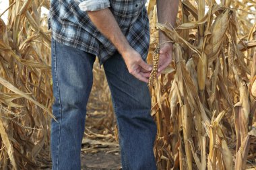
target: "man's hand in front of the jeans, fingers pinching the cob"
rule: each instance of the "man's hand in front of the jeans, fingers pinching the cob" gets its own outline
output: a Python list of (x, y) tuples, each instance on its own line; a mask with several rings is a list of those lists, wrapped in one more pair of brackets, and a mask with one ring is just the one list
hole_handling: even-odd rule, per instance
[(148, 83), (152, 67), (142, 60), (139, 52), (131, 49), (124, 52), (122, 56), (129, 73), (140, 81)]

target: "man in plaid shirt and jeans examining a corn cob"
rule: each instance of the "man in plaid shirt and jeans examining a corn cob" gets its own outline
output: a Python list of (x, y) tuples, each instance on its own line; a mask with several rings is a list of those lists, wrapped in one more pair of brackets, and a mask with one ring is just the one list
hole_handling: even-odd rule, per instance
[[(51, 0), (53, 169), (81, 169), (86, 104), (96, 56), (104, 66), (119, 128), (124, 170), (156, 169), (156, 124), (147, 87), (152, 67), (147, 0)], [(158, 22), (174, 26), (178, 0), (159, 0)], [(160, 33), (160, 43), (168, 39)], [(158, 75), (172, 60), (172, 44), (160, 47)]]

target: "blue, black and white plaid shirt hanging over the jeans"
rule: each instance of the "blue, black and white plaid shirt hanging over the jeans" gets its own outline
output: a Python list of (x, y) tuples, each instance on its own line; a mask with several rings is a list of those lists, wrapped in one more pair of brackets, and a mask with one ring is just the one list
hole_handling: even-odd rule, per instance
[[(57, 42), (98, 56), (100, 65), (117, 50), (92, 24), (86, 11), (109, 7), (121, 31), (143, 59), (148, 55), (150, 30), (147, 0), (51, 0), (49, 29)], [(111, 32), (111, 30), (109, 30)], [(115, 34), (115, 32), (113, 32)]]

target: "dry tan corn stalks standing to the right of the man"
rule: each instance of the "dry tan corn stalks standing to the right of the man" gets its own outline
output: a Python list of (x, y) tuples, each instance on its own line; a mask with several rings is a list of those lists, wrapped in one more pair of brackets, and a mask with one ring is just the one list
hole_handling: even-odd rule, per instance
[(256, 3), (181, 1), (174, 30), (150, 3), (151, 50), (155, 27), (176, 42), (151, 88), (158, 169), (255, 169)]

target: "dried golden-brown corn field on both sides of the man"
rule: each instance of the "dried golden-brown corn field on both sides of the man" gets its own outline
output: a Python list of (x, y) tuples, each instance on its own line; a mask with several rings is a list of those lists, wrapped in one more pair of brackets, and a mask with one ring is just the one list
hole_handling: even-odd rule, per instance
[[(9, 0), (7, 24), (0, 19), (0, 169), (51, 165), (51, 30), (42, 7), (50, 1)], [(158, 24), (156, 0), (147, 8), (148, 62), (158, 30), (175, 42), (171, 65), (150, 87), (158, 169), (256, 169), (256, 1), (182, 0), (176, 28)], [(94, 75), (88, 108), (104, 110), (92, 123), (104, 130), (86, 134), (113, 142), (107, 83), (96, 83), (102, 69)]]

